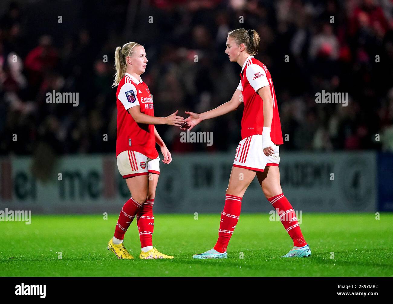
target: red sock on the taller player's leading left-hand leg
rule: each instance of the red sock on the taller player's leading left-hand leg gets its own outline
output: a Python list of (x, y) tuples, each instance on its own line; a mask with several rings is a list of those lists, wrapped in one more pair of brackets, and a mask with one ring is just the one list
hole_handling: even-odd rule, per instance
[(230, 194), (225, 195), (224, 211), (221, 212), (219, 239), (214, 246), (214, 249), (218, 252), (226, 251), (233, 230), (235, 230), (237, 221), (239, 220), (241, 207), (241, 197)]

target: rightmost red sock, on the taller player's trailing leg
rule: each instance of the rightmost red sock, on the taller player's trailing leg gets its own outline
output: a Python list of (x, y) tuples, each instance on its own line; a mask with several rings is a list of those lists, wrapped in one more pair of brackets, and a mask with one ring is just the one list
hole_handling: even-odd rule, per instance
[(294, 241), (294, 246), (302, 247), (307, 245), (301, 233), (296, 213), (288, 199), (284, 196), (284, 193), (270, 197), (268, 201), (275, 209), (278, 209), (279, 219), (284, 225), (286, 232)]

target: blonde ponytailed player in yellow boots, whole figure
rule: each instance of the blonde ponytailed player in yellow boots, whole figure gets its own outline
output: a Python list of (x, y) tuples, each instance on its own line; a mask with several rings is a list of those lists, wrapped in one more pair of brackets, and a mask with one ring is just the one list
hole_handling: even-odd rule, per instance
[(147, 62), (145, 48), (136, 42), (128, 42), (116, 48), (116, 75), (112, 85), (118, 87), (116, 158), (119, 172), (132, 195), (121, 209), (114, 237), (108, 242), (108, 249), (119, 259), (133, 259), (124, 247), (123, 239), (135, 217), (142, 247), (139, 257), (174, 258), (162, 254), (152, 246), (153, 204), (160, 175), (160, 158), (156, 143), (161, 148), (163, 163), (169, 164), (172, 161), (171, 153), (154, 125), (180, 127), (184, 123), (184, 118), (176, 116), (177, 110), (167, 117), (154, 116), (149, 87), (141, 79)]

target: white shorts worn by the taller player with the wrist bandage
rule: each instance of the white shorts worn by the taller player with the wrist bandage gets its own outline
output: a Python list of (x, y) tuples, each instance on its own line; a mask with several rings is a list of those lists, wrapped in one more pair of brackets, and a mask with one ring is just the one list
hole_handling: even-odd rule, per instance
[(256, 134), (243, 138), (235, 153), (234, 167), (263, 172), (265, 167), (278, 166), (280, 146), (274, 145), (274, 154), (266, 156), (262, 149), (262, 135)]

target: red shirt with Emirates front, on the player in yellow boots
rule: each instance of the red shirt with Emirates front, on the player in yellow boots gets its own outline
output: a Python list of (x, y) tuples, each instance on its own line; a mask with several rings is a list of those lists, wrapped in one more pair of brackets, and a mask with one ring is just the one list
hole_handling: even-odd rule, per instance
[(141, 112), (154, 116), (153, 99), (149, 87), (140, 79), (125, 73), (116, 91), (118, 131), (116, 157), (123, 151), (137, 151), (149, 158), (157, 158), (154, 125), (136, 123), (128, 109), (139, 105)]

